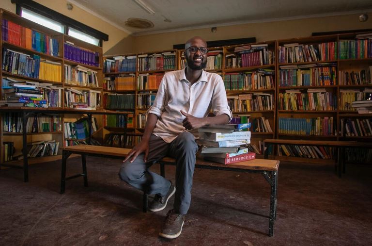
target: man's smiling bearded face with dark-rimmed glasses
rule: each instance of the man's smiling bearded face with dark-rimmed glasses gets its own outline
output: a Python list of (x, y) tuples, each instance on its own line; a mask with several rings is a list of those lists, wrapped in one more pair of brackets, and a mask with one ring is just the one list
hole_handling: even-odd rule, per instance
[(197, 48), (206, 48), (207, 44), (202, 38), (194, 37), (188, 40), (185, 45), (187, 66), (192, 70), (202, 70), (203, 68), (205, 68), (205, 66), (207, 66), (207, 54), (202, 54), (200, 49), (192, 52), (189, 49), (191, 46)]

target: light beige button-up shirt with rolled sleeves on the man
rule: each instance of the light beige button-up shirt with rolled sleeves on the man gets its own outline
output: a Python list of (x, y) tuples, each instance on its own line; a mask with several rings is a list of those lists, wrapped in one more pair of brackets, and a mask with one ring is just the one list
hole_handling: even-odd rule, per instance
[(160, 82), (153, 106), (147, 111), (159, 117), (153, 134), (171, 143), (181, 132), (184, 111), (195, 117), (206, 117), (212, 110), (214, 115), (229, 115), (225, 86), (221, 76), (203, 71), (200, 79), (191, 85), (185, 69), (166, 73)]

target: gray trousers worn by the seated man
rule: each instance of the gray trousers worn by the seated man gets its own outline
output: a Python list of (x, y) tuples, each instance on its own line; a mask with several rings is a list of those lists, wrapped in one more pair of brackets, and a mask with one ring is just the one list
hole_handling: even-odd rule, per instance
[(129, 159), (120, 168), (120, 179), (144, 193), (165, 196), (171, 186), (171, 182), (151, 172), (149, 168), (157, 160), (165, 156), (175, 158), (176, 193), (173, 209), (176, 213), (186, 214), (191, 202), (192, 176), (195, 169), (196, 152), (198, 151), (194, 135), (190, 132), (182, 132), (168, 144), (162, 138), (152, 134), (149, 145), (147, 163), (143, 161), (143, 153), (133, 163), (130, 163)]

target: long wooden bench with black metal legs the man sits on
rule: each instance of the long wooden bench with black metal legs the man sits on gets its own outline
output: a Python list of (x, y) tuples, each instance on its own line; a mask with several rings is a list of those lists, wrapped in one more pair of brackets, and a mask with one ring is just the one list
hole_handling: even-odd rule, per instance
[[(65, 191), (66, 180), (74, 179), (78, 177), (84, 178), (84, 186), (88, 186), (87, 178), (87, 166), (86, 166), (86, 156), (99, 156), (99, 157), (109, 157), (116, 159), (124, 159), (127, 153), (130, 151), (128, 148), (112, 148), (112, 147), (102, 147), (102, 146), (91, 146), (91, 145), (78, 145), (69, 146), (62, 148), (62, 174), (61, 174), (61, 194)], [(81, 155), (82, 161), (82, 173), (76, 174), (66, 178), (66, 163), (67, 158), (71, 154)], [(158, 161), (160, 164), (160, 175), (165, 176), (166, 164), (175, 165), (175, 159), (165, 157)], [(276, 160), (263, 160), (255, 159), (251, 161), (236, 163), (236, 164), (219, 164), (215, 162), (205, 161), (201, 158), (197, 158), (195, 167), (214, 169), (214, 170), (225, 170), (225, 171), (235, 171), (235, 172), (251, 172), (251, 173), (261, 173), (263, 177), (267, 180), (271, 187), (270, 193), (270, 212), (269, 212), (269, 236), (272, 237), (274, 233), (274, 220), (276, 218), (277, 212), (277, 191), (278, 191), (278, 168), (279, 161)], [(148, 207), (148, 194), (143, 194), (143, 212), (147, 212)]]

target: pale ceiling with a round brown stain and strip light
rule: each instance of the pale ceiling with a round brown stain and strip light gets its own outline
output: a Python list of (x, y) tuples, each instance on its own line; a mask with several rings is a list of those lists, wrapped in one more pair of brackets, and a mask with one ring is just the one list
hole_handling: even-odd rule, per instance
[[(372, 0), (137, 0), (155, 14), (136, 0), (68, 1), (133, 35), (372, 11)], [(154, 27), (127, 27), (130, 17), (150, 20)]]

